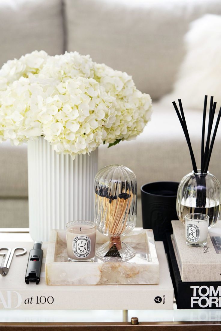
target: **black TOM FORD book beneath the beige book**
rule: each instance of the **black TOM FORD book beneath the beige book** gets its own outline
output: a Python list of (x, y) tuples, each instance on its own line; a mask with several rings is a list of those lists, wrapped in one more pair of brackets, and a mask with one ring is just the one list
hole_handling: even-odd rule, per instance
[[(173, 235), (167, 234), (168, 262), (178, 309), (221, 308), (221, 282), (183, 282), (176, 258)], [(221, 267), (220, 267), (221, 269)], [(220, 270), (221, 272), (221, 270)]]

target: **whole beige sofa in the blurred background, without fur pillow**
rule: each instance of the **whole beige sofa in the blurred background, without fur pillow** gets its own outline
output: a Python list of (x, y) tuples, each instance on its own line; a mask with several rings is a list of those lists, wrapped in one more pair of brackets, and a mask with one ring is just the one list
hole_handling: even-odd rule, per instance
[[(100, 146), (99, 167), (113, 163), (129, 166), (137, 175), (140, 194), (139, 188), (146, 182), (180, 181), (192, 170), (172, 103), (158, 100), (172, 89), (185, 54), (183, 37), (190, 22), (206, 13), (221, 14), (221, 2), (2, 0), (0, 65), (35, 49), (50, 55), (77, 50), (133, 75), (137, 87), (153, 99), (152, 120), (137, 140), (108, 150)], [(202, 113), (185, 111), (199, 160)], [(219, 129), (210, 171), (221, 181), (220, 142)], [(0, 227), (28, 227), (27, 145), (2, 143), (0, 165)]]

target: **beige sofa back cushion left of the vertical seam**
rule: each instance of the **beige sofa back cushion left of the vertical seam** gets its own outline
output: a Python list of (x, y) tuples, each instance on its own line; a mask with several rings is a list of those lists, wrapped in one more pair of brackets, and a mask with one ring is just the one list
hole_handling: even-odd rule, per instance
[(7, 60), (43, 49), (64, 52), (61, 0), (0, 1), (0, 67)]

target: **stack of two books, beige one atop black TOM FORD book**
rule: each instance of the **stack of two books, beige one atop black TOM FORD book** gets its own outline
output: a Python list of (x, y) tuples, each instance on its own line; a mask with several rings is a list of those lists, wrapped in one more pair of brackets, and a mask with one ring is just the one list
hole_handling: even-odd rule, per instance
[(209, 230), (207, 245), (185, 243), (185, 226), (172, 221), (168, 235), (171, 278), (178, 309), (221, 308), (221, 221)]

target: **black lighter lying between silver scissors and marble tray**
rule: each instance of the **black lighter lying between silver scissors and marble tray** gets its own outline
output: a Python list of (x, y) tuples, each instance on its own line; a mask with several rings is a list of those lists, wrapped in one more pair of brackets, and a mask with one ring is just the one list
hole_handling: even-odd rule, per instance
[(41, 263), (43, 258), (41, 244), (41, 241), (35, 241), (33, 249), (30, 250), (25, 275), (26, 284), (29, 284), (29, 282), (35, 282), (36, 284), (38, 284), (40, 282)]

